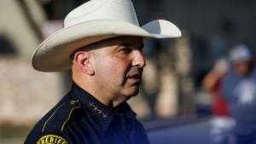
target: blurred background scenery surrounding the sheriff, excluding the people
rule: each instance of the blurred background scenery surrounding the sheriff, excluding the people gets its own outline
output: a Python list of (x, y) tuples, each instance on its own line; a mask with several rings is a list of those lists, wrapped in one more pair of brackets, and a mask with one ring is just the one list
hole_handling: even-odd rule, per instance
[[(37, 72), (31, 58), (40, 42), (63, 27), (67, 13), (84, 2), (0, 0), (0, 144), (23, 143), (38, 119), (69, 90), (70, 72)], [(210, 143), (212, 93), (204, 79), (236, 44), (256, 52), (256, 1), (133, 3), (141, 25), (170, 20), (183, 37), (145, 44), (147, 66), (140, 94), (129, 101), (132, 109), (152, 143)]]

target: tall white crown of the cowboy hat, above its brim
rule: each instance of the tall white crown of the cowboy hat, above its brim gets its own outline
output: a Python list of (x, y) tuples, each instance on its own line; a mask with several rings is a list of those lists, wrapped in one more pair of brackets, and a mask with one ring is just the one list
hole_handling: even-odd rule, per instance
[(90, 0), (67, 14), (64, 27), (91, 20), (122, 20), (139, 26), (131, 0)]

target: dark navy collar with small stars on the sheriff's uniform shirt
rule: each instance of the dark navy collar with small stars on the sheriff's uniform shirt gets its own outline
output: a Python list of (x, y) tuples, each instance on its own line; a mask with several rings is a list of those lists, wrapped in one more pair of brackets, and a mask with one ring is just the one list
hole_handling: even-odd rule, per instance
[(100, 124), (104, 132), (108, 130), (116, 115), (131, 119), (136, 118), (136, 113), (131, 110), (131, 107), (126, 102), (120, 104), (119, 107), (110, 109), (75, 83), (73, 83), (70, 94), (74, 99), (79, 100), (81, 107), (89, 111), (96, 118), (97, 123)]

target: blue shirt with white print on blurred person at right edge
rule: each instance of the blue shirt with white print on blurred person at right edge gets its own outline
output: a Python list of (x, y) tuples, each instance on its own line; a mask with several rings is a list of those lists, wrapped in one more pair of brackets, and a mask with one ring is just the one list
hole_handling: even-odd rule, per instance
[(229, 102), (230, 112), (236, 120), (236, 133), (256, 132), (256, 69), (247, 76), (231, 70), (222, 82), (222, 96)]

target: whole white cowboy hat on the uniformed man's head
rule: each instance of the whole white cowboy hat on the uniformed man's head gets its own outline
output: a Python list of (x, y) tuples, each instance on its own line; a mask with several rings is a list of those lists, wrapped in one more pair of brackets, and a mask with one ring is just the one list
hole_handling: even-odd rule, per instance
[(131, 0), (90, 0), (67, 14), (64, 28), (38, 46), (32, 66), (43, 72), (68, 70), (74, 51), (118, 36), (166, 38), (180, 37), (181, 32), (166, 20), (154, 20), (140, 27)]

